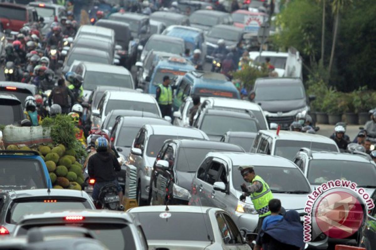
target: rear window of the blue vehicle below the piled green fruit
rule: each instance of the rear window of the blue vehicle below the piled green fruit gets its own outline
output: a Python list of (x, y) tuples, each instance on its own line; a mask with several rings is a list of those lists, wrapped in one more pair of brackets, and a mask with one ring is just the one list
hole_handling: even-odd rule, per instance
[(47, 183), (38, 160), (0, 158), (0, 193), (45, 188)]

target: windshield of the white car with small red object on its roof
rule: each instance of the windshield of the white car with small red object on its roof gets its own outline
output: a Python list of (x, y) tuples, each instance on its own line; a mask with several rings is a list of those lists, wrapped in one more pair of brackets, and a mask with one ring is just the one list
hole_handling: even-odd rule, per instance
[(309, 148), (313, 151), (338, 152), (335, 144), (310, 142), (310, 141), (289, 141), (277, 140), (274, 155), (293, 160), (300, 148)]

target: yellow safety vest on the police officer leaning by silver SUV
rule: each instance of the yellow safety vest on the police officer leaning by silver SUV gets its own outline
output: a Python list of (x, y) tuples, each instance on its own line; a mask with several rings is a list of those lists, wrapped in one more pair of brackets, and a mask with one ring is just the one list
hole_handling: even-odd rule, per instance
[(255, 193), (250, 194), (250, 197), (253, 202), (253, 206), (255, 207), (255, 210), (259, 214), (259, 217), (268, 216), (271, 214), (269, 210), (269, 201), (273, 199), (273, 194), (271, 193), (269, 185), (264, 180), (262, 180), (261, 177), (256, 175), (255, 178), (252, 180), (252, 183), (254, 181), (261, 182), (262, 190), (259, 193), (255, 192)]

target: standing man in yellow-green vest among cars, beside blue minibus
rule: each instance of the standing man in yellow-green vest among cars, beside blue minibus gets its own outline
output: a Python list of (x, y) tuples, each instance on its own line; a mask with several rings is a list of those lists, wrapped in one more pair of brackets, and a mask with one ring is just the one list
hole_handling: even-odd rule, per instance
[(162, 117), (172, 117), (172, 88), (170, 86), (170, 76), (163, 77), (163, 83), (159, 84), (156, 90), (155, 99), (161, 109)]

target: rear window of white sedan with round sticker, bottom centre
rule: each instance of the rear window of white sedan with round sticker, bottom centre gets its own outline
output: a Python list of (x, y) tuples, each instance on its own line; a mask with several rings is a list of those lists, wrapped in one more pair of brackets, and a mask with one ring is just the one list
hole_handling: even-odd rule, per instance
[(141, 222), (147, 240), (210, 242), (209, 238), (212, 237), (208, 235), (213, 233), (205, 214), (169, 213), (168, 219), (164, 214), (165, 212), (133, 213)]

